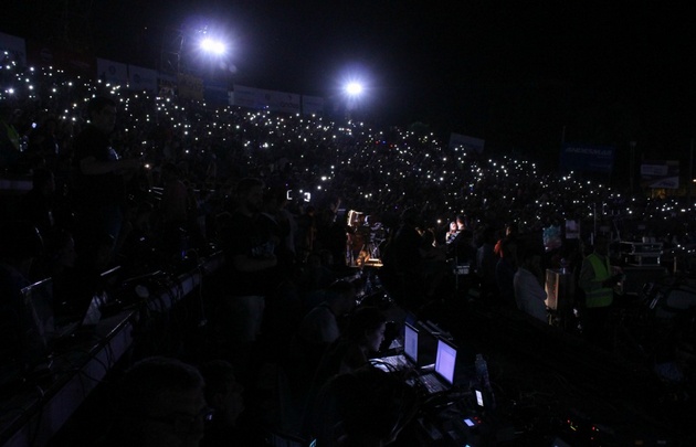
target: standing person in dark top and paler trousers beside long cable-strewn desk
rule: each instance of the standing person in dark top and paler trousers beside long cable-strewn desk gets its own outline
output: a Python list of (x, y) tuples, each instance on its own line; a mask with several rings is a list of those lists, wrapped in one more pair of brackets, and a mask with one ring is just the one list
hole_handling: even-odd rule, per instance
[(223, 249), (229, 267), (223, 308), (230, 318), (233, 363), (240, 374), (249, 373), (252, 344), (261, 332), (265, 297), (277, 283), (274, 235), (262, 222), (264, 183), (240, 180), (238, 206), (223, 230)]

